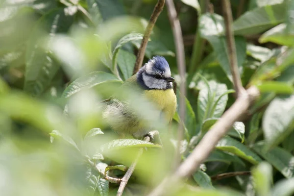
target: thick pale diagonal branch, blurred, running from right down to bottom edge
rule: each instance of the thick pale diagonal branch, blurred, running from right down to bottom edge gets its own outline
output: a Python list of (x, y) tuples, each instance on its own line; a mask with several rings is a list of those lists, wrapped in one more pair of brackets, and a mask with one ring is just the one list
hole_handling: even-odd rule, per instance
[(178, 185), (181, 179), (192, 175), (199, 168), (200, 164), (205, 161), (233, 123), (245, 114), (249, 106), (258, 96), (258, 89), (252, 86), (238, 97), (234, 104), (222, 115), (221, 119), (204, 135), (177, 171), (171, 176), (166, 177), (149, 196), (169, 195), (169, 193), (176, 191), (178, 187), (175, 185)]

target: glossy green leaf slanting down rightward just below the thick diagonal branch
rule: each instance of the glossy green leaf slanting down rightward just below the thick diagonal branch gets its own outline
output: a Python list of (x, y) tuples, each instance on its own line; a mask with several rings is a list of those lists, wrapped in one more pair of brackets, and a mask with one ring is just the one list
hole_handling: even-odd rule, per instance
[(262, 159), (253, 151), (251, 151), (249, 148), (247, 148), (242, 143), (228, 136), (222, 138), (217, 144), (216, 148), (223, 151), (231, 152), (249, 161), (250, 163), (254, 165), (262, 161)]

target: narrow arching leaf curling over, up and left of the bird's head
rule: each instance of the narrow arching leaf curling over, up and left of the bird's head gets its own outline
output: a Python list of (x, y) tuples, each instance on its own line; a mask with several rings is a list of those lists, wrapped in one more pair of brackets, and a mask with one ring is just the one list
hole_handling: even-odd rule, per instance
[(142, 40), (142, 39), (143, 39), (143, 34), (130, 33), (130, 34), (123, 36), (123, 38), (119, 40), (118, 44), (116, 45), (116, 47), (114, 48), (114, 50), (112, 52), (112, 71), (115, 72), (117, 70), (117, 54), (118, 54), (119, 49), (122, 48), (122, 46), (125, 43), (128, 43), (130, 41), (134, 41), (134, 40)]

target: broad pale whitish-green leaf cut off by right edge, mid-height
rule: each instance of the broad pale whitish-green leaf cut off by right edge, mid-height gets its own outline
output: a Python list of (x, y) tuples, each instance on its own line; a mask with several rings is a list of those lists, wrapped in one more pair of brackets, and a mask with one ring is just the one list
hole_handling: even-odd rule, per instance
[(282, 142), (294, 128), (294, 95), (274, 98), (265, 111), (262, 127), (266, 148)]

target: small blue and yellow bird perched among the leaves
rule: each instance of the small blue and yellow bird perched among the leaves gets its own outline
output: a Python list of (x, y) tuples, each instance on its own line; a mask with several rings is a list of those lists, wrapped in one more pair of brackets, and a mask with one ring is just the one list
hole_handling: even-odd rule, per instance
[[(164, 114), (167, 123), (172, 121), (176, 110), (176, 96), (172, 89), (174, 78), (167, 60), (162, 56), (154, 56), (120, 87), (140, 89), (141, 95), (154, 105), (154, 108)], [(143, 123), (129, 107), (128, 102), (111, 98), (106, 104), (102, 117), (111, 128), (122, 136), (132, 135), (142, 139), (154, 130), (150, 124)]]

